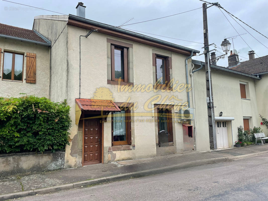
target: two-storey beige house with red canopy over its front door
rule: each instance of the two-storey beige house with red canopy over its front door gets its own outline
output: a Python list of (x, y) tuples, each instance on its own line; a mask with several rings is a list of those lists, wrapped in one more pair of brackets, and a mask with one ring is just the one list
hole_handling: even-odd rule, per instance
[[(71, 106), (66, 167), (195, 149), (192, 125), (172, 114), (192, 102), (186, 77), (199, 51), (111, 27), (71, 14), (33, 23), (52, 44), (50, 98)], [(209, 150), (207, 136), (200, 150)]]

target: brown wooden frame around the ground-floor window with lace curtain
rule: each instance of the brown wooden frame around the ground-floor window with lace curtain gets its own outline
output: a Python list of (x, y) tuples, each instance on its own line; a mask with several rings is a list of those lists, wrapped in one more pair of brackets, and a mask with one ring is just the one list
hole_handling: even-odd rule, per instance
[(111, 120), (111, 124), (112, 124), (112, 133), (111, 133), (111, 137), (112, 137), (112, 146), (120, 146), (120, 145), (131, 145), (131, 112), (129, 108), (122, 108), (121, 110), (126, 111), (125, 114), (128, 114), (125, 116), (125, 124), (126, 124), (126, 140), (124, 141), (114, 141), (113, 138), (113, 112), (112, 112), (112, 120)]

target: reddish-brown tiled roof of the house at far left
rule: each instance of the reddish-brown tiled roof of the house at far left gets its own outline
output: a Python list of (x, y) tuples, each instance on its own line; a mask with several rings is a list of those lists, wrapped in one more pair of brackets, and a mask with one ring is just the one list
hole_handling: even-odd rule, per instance
[(48, 41), (44, 40), (44, 38), (39, 36), (33, 30), (13, 27), (7, 24), (0, 23), (0, 34), (29, 39), (29, 40), (35, 40), (35, 41), (42, 42), (42, 43), (48, 43)]

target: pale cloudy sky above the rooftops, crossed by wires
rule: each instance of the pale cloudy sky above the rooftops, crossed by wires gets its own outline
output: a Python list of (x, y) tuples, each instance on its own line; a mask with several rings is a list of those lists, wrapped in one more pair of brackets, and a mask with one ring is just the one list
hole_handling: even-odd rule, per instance
[[(76, 15), (76, 5), (78, 1), (51, 1), (51, 0), (10, 0), (13, 2), (35, 6), (42, 9), (52, 10), (64, 14)], [(80, 0), (81, 1), (81, 0)], [(209, 1), (209, 0), (207, 0)], [(143, 33), (154, 38), (162, 39), (168, 42), (179, 44), (181, 46), (189, 47), (199, 50), (200, 54), (203, 53), (203, 14), (202, 14), (202, 1), (199, 0), (135, 0), (135, 1), (117, 1), (117, 0), (104, 0), (104, 1), (82, 1), (86, 6), (86, 18), (101, 23), (106, 23), (114, 26), (119, 26), (126, 21), (126, 24), (136, 23), (145, 20), (151, 20), (159, 17), (169, 16), (176, 13), (193, 10), (191, 12), (178, 14), (171, 17), (166, 17), (149, 22), (127, 25), (122, 28), (132, 29), (135, 32), (142, 31)], [(213, 2), (213, 1), (209, 1)], [(218, 0), (219, 4), (232, 13), (240, 20), (244, 21), (257, 31), (268, 37), (267, 26), (267, 0)], [(34, 16), (38, 15), (60, 15), (57, 13), (49, 12), (42, 9), (35, 9), (24, 5), (0, 0), (1, 19), (0, 23), (8, 24), (16, 27), (32, 29)], [(223, 11), (223, 10), (222, 10)], [(228, 20), (226, 19), (226, 17)], [(242, 28), (236, 21), (234, 21), (225, 11), (223, 13), (219, 8), (212, 6), (207, 9), (208, 30), (209, 30), (209, 43), (215, 43), (219, 48), (216, 48), (216, 56), (223, 54), (221, 49), (221, 42), (225, 38), (231, 44), (230, 50), (236, 49), (239, 54), (240, 62), (248, 60), (248, 51), (255, 51), (255, 58), (262, 57), (268, 54), (268, 39), (260, 35), (250, 27), (239, 22)], [(253, 35), (254, 39), (248, 32)], [(150, 35), (148, 33), (161, 35)], [(244, 34), (246, 33), (246, 34)], [(170, 38), (166, 38), (166, 37)], [(176, 38), (176, 39), (171, 39)], [(181, 39), (181, 40), (178, 40)], [(183, 41), (188, 40), (188, 41)], [(261, 44), (262, 43), (262, 44)], [(266, 46), (266, 47), (265, 47)], [(210, 50), (215, 47), (210, 46)], [(228, 55), (230, 52), (228, 53)], [(193, 59), (204, 61), (204, 55), (194, 56)], [(219, 66), (228, 66), (228, 59), (219, 59), (217, 62)]]

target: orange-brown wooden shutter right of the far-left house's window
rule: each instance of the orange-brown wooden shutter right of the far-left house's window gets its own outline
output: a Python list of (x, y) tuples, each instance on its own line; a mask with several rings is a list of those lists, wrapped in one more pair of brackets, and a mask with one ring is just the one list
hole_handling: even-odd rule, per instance
[(35, 53), (26, 53), (26, 83), (36, 83)]

